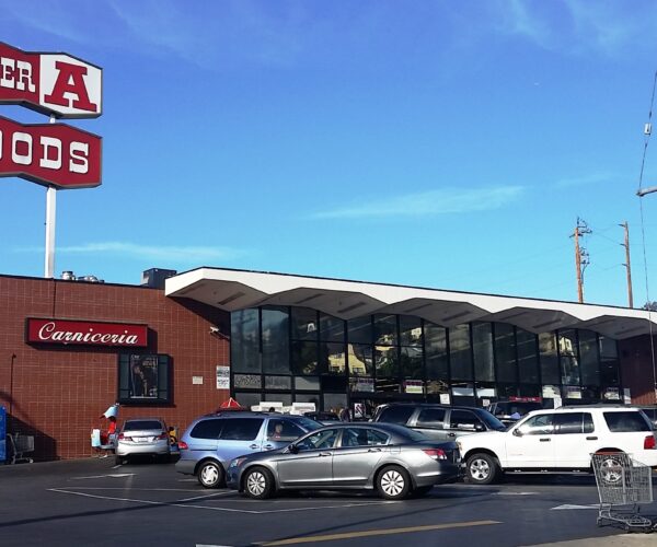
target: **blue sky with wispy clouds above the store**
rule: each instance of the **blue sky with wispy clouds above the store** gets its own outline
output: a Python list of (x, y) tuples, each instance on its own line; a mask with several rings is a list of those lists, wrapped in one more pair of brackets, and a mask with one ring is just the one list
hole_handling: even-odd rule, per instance
[[(623, 221), (646, 301), (654, 2), (0, 4), (1, 40), (104, 69), (103, 116), (71, 121), (103, 137), (103, 185), (58, 193), (57, 275), (206, 265), (575, 301), (580, 217), (586, 301), (626, 305)], [(643, 208), (650, 280), (657, 195)], [(0, 179), (0, 272), (43, 275), (44, 219), (43, 187)]]

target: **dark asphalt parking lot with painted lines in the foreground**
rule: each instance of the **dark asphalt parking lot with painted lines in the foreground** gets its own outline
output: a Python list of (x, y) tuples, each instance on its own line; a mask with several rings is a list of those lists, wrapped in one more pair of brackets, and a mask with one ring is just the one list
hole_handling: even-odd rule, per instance
[[(89, 458), (0, 466), (0, 486), (3, 547), (657, 544), (657, 533), (597, 526), (590, 476), (511, 476), (489, 487), (435, 487), (426, 498), (399, 502), (331, 492), (255, 501), (206, 490), (173, 464)], [(657, 521), (657, 504), (643, 513)]]

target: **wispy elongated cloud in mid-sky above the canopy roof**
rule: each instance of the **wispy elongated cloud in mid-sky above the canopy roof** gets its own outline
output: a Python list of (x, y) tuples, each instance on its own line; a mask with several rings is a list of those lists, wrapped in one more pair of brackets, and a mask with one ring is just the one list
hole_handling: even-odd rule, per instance
[(488, 188), (442, 188), (439, 190), (407, 194), (366, 203), (319, 211), (311, 219), (371, 219), (434, 217), (498, 209), (517, 200), (522, 186), (497, 186)]

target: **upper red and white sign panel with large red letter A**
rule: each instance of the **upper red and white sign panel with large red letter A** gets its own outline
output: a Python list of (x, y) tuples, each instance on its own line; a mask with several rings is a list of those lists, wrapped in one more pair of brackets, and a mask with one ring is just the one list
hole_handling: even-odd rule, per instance
[(102, 114), (103, 71), (66, 54), (23, 51), (0, 43), (0, 103), (60, 118)]

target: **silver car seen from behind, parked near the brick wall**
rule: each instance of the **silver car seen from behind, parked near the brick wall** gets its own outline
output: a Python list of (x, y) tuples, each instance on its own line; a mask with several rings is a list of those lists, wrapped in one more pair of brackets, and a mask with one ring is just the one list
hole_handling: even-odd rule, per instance
[(123, 422), (116, 437), (116, 464), (132, 456), (155, 456), (169, 461), (169, 428), (160, 418), (130, 418)]

